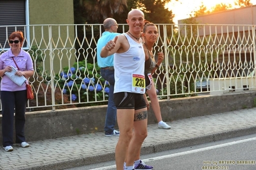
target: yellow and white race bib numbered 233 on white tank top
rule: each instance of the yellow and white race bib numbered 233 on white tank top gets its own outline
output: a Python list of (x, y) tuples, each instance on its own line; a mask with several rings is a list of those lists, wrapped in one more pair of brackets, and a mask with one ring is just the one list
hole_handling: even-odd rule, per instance
[(132, 92), (145, 93), (145, 77), (140, 74), (132, 74)]

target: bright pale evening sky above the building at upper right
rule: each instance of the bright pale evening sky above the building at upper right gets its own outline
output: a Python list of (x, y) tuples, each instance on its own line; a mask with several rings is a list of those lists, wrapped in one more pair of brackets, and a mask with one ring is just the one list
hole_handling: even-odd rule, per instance
[[(178, 20), (187, 19), (189, 18), (189, 14), (191, 14), (193, 11), (199, 10), (202, 2), (207, 9), (221, 3), (232, 5), (235, 4), (235, 0), (178, 0), (178, 2), (171, 0), (171, 3), (167, 4), (167, 8), (172, 10), (173, 14), (175, 14), (173, 22), (177, 24)], [(256, 4), (256, 0), (251, 0), (250, 2), (252, 4)]]

